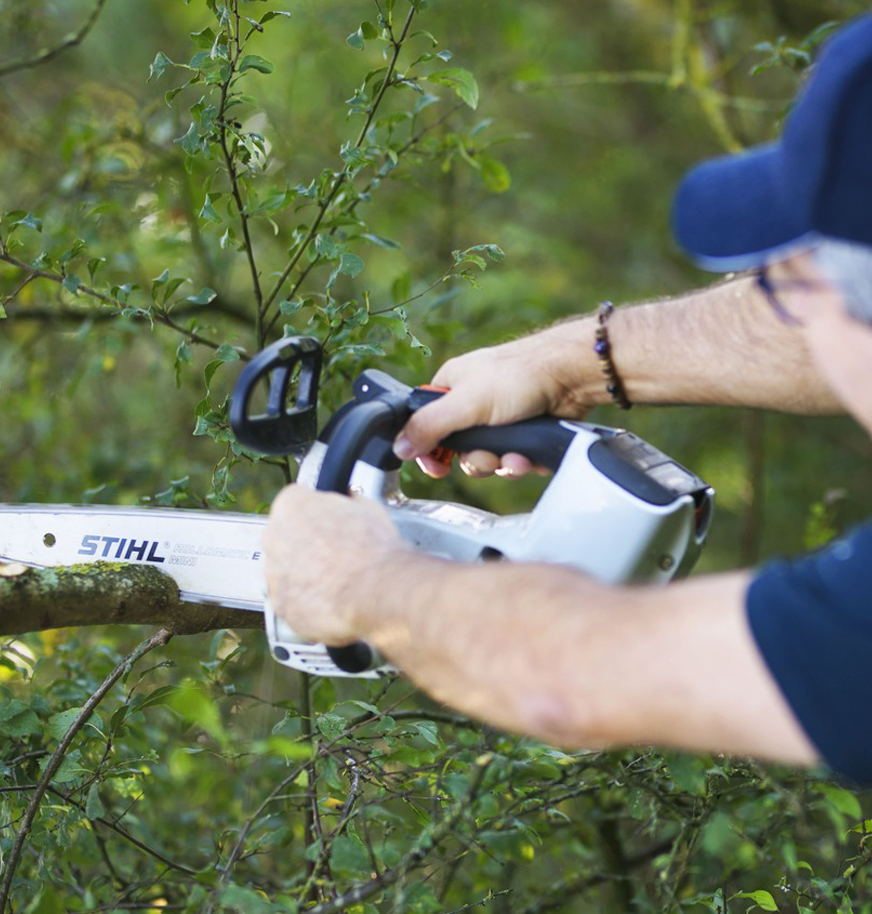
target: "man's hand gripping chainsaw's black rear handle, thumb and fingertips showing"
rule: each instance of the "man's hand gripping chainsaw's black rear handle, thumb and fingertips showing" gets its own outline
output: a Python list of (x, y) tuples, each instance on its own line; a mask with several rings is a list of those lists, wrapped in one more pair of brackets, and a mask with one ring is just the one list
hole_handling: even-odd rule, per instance
[[(449, 359), (431, 381), (448, 391), (412, 414), (394, 443), (397, 456), (415, 459), (425, 473), (441, 477), (450, 467), (429, 454), (452, 432), (474, 425), (507, 425), (541, 415), (583, 416), (593, 403), (581, 399), (569, 366), (577, 368), (585, 348), (589, 349), (579, 339), (582, 334), (586, 339), (587, 324), (585, 320), (560, 324)], [(520, 454), (486, 451), (462, 454), (460, 466), (470, 476), (544, 472)]]

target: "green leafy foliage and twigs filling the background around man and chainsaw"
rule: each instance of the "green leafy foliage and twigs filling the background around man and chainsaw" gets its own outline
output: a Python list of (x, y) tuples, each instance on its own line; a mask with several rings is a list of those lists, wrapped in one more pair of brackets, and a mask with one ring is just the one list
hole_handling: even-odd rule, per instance
[[(4, 8), (4, 500), (254, 510), (291, 469), (235, 441), (227, 394), (278, 336), (324, 342), (326, 415), (371, 363), (426, 380), (461, 348), (698, 281), (665, 240), (676, 176), (768, 136), (821, 20), (859, 8), (289, 6), (98, 4), (90, 35), (75, 4)], [(733, 564), (764, 514), (765, 553), (868, 513), (866, 445), (843, 423), (815, 438), (771, 418), (752, 439), (720, 413), (635, 413), (721, 492), (709, 567)], [(443, 485), (503, 510), (537, 491)], [(872, 906), (868, 798), (828, 780), (567, 754), (401, 679), (291, 676), (256, 633), (138, 659), (136, 637), (0, 645), (5, 872), (53, 772), (7, 910)]]

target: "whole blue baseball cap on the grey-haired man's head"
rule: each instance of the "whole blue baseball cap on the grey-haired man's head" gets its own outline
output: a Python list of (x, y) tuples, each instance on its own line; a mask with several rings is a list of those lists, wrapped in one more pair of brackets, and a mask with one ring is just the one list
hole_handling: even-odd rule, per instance
[(781, 139), (697, 166), (673, 204), (707, 270), (747, 270), (822, 237), (872, 246), (872, 16), (822, 47)]

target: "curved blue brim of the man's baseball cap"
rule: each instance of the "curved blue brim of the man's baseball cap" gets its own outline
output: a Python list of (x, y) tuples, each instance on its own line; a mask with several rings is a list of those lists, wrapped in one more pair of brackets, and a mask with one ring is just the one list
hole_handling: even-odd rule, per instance
[(749, 270), (814, 243), (816, 233), (782, 188), (778, 144), (694, 168), (672, 210), (678, 243), (706, 270)]

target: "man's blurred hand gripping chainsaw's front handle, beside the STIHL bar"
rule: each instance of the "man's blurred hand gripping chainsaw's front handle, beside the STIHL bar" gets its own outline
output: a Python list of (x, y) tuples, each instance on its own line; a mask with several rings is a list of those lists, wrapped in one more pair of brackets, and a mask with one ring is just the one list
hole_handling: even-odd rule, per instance
[(357, 641), (371, 582), (389, 575), (391, 556), (405, 548), (376, 502), (286, 486), (264, 533), (273, 608), (307, 641)]

